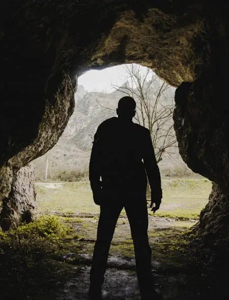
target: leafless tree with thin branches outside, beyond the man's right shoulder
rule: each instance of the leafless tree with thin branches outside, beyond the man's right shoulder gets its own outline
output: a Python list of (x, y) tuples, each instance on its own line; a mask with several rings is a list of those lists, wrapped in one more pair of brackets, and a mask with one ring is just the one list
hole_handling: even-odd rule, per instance
[[(135, 120), (150, 130), (157, 162), (163, 156), (173, 154), (173, 147), (177, 145), (173, 129), (173, 109), (171, 104), (164, 104), (167, 99), (169, 84), (163, 82), (150, 68), (142, 72), (139, 65), (126, 65), (126, 82), (113, 87), (136, 101)], [(169, 102), (167, 99), (166, 102)]]

